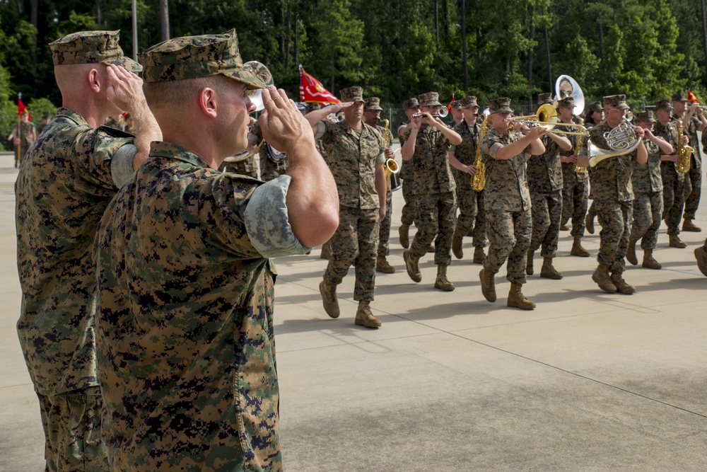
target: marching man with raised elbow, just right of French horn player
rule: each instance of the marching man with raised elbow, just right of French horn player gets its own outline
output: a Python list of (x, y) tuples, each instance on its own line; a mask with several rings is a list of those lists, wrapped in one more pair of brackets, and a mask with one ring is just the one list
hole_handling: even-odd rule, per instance
[(658, 244), (658, 229), (662, 219), (662, 176), (660, 174), (661, 156), (672, 155), (672, 146), (661, 137), (651, 132), (655, 125), (653, 111), (636, 113), (636, 125), (645, 129), (643, 144), (648, 152), (648, 162), (633, 163), (633, 224), (629, 248), (626, 250), (626, 260), (638, 264), (636, 258), (636, 243), (641, 240), (643, 249), (643, 267), (660, 269), (661, 265), (653, 258), (653, 250)]

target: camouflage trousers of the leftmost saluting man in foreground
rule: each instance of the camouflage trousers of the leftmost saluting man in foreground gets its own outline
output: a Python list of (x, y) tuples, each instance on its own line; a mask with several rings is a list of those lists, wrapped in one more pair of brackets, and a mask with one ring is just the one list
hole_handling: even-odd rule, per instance
[(100, 435), (100, 387), (52, 396), (37, 393), (37, 397), (45, 432), (45, 470), (108, 471), (107, 451)]

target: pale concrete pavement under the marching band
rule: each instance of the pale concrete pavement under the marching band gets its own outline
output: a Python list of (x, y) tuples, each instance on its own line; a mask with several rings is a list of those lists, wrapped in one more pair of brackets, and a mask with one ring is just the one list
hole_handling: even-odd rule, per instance
[[(0, 471), (42, 471), (38, 403), (18, 345), (19, 313), (11, 156), (0, 155)], [(705, 185), (703, 185), (703, 193)], [(631, 296), (604, 294), (590, 258), (569, 255), (561, 233), (555, 267), (564, 278), (529, 277), (534, 311), (481, 295), (480, 266), (464, 238), (454, 292), (404, 270), (394, 197), (390, 262), (376, 279), (382, 327), (354, 326), (353, 271), (339, 286), (341, 317), (322, 309), (326, 260), (277, 260), (276, 344), (286, 471), (699, 471), (707, 468), (707, 277), (692, 251), (707, 236), (707, 203), (667, 247), (662, 270), (632, 267)], [(598, 229), (598, 228), (597, 228)], [(411, 231), (414, 233), (414, 231)], [(640, 253), (639, 253), (640, 259)], [(503, 272), (501, 272), (503, 274)]]

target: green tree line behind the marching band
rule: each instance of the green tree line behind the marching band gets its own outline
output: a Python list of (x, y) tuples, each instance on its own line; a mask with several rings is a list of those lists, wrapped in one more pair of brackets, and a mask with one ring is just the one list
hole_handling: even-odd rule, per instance
[[(675, 91), (707, 101), (704, 1), (138, 0), (136, 23), (138, 50), (235, 28), (243, 60), (266, 64), (293, 98), (302, 64), (334, 94), (361, 85), (396, 106), (438, 91), (530, 109), (566, 74), (588, 103), (625, 93), (641, 110)], [(119, 29), (132, 56), (132, 0), (0, 0), (0, 27), (4, 137), (18, 92), (35, 116), (61, 103), (49, 42)]]

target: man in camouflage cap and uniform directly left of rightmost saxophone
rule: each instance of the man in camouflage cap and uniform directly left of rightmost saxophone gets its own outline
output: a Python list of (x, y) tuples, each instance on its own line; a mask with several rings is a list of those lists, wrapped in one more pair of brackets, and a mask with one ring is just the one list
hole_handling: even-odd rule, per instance
[[(671, 120), (672, 105), (670, 100), (658, 100), (655, 103), (658, 122), (653, 127), (653, 134), (669, 142), (677, 150), (677, 122)], [(663, 219), (667, 225), (668, 244), (673, 248), (686, 248), (680, 239), (680, 221), (685, 205), (685, 175), (675, 168), (674, 161), (662, 161), (660, 173), (663, 184)]]

